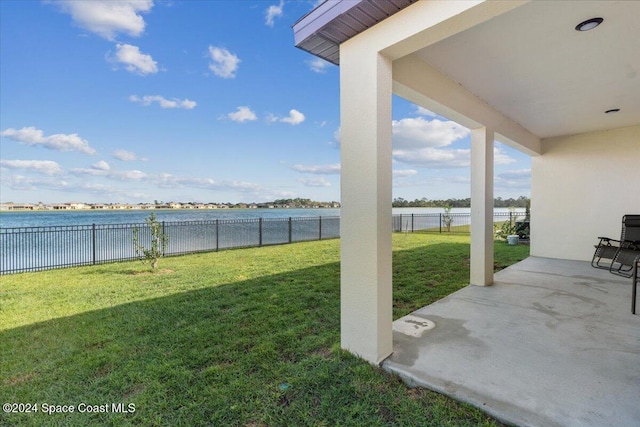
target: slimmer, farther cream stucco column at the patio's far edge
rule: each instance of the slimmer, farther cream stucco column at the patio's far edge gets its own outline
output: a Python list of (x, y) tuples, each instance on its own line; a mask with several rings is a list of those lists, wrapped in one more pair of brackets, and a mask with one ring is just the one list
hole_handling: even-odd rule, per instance
[(471, 131), (471, 284), (493, 283), (493, 131)]

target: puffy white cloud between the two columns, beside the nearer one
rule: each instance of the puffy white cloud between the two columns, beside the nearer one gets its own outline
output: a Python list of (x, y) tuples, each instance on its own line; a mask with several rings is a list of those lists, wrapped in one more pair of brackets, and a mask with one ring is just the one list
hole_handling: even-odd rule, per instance
[(394, 120), (393, 147), (399, 150), (446, 147), (469, 135), (469, 129), (448, 120), (422, 117)]

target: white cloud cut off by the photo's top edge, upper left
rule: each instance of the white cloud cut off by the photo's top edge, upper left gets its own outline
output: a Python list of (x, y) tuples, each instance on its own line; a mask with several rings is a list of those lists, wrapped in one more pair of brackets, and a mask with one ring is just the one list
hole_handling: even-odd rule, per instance
[(61, 0), (57, 4), (78, 26), (114, 40), (118, 33), (139, 36), (144, 32), (145, 22), (140, 13), (149, 12), (153, 0)]

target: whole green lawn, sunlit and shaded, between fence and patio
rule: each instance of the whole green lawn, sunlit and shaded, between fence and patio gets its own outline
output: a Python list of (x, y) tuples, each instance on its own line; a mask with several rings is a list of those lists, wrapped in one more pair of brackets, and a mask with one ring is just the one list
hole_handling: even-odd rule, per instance
[[(499, 266), (526, 256), (496, 242)], [(394, 317), (465, 286), (468, 259), (468, 236), (394, 235)], [(328, 240), (2, 276), (0, 397), (39, 412), (0, 425), (498, 425), (339, 350), (338, 261)]]

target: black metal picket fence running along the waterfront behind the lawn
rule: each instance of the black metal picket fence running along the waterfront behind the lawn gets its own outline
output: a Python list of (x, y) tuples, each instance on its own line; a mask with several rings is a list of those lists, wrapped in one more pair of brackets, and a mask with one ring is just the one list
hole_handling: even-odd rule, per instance
[[(515, 220), (515, 215), (495, 213), (494, 222)], [(469, 234), (470, 224), (468, 213), (393, 216), (396, 232)], [(0, 274), (136, 259), (135, 228), (148, 247), (145, 223), (0, 228)], [(168, 236), (164, 255), (170, 256), (338, 238), (340, 217), (162, 222), (162, 230)]]

